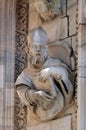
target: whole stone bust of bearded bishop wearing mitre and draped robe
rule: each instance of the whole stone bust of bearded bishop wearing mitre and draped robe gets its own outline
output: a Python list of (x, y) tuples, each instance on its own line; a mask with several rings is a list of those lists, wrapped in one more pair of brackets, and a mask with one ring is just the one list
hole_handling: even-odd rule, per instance
[(15, 83), (21, 101), (38, 121), (57, 118), (72, 102), (71, 71), (48, 56), (48, 36), (41, 27), (29, 32), (28, 67)]

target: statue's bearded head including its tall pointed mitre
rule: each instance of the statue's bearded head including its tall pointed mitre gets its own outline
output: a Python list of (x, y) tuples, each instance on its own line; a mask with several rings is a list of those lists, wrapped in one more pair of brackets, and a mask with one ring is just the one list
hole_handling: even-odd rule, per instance
[(44, 29), (38, 27), (29, 32), (27, 40), (30, 62), (34, 67), (39, 68), (48, 56), (48, 36)]

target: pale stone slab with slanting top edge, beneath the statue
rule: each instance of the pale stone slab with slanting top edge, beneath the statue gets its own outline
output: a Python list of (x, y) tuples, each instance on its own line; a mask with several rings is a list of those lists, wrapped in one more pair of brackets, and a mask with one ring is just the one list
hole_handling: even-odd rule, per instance
[(65, 117), (43, 122), (33, 126), (27, 126), (26, 130), (75, 130), (76, 114), (67, 115)]

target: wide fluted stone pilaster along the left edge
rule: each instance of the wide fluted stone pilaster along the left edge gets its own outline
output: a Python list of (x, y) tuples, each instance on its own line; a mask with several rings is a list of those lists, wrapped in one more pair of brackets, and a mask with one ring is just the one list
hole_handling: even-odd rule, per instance
[(0, 0), (0, 130), (14, 130), (15, 0)]

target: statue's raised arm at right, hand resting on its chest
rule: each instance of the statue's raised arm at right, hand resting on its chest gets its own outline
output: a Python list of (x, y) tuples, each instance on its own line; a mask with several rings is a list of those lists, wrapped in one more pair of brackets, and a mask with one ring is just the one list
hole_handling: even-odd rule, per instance
[(40, 81), (44, 82), (49, 77), (55, 79), (57, 83), (57, 87), (59, 86), (59, 90), (61, 90), (63, 96), (69, 103), (72, 99), (73, 95), (73, 85), (69, 79), (69, 73), (65, 67), (49, 67), (45, 68), (40, 72)]

